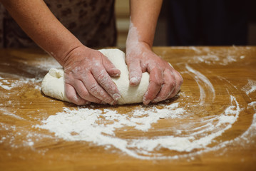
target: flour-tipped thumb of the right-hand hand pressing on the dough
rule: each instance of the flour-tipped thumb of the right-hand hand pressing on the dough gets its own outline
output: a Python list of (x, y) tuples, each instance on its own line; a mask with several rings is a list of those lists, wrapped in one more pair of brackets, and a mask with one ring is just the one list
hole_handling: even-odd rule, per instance
[(142, 77), (140, 61), (136, 60), (128, 63), (128, 70), (130, 86), (137, 86), (140, 83)]

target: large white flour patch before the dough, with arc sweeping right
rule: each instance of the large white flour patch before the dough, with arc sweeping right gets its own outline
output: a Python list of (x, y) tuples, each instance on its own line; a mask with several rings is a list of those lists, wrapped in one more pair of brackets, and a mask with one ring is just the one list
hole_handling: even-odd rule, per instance
[[(192, 110), (180, 108), (179, 103), (166, 105), (159, 109), (155, 106), (133, 110), (121, 114), (116, 110), (98, 110), (93, 108), (78, 108), (70, 110), (64, 108), (63, 112), (51, 115), (43, 120), (43, 125), (36, 128), (47, 129), (55, 133), (56, 137), (69, 141), (87, 141), (96, 145), (108, 147), (111, 145), (126, 152), (126, 154), (140, 159), (164, 159), (177, 156), (163, 156), (156, 153), (161, 148), (178, 152), (191, 152), (195, 149), (207, 149), (213, 139), (222, 135), (238, 118), (241, 111), (234, 96), (230, 96), (231, 105), (220, 115), (200, 119), (203, 124), (198, 128), (198, 123), (180, 123), (180, 127), (172, 127), (165, 131), (173, 131), (173, 135), (158, 135), (153, 138), (122, 138), (118, 130), (136, 130), (150, 133), (154, 124), (159, 120), (183, 120), (190, 118)], [(185, 125), (185, 127), (184, 127)], [(190, 129), (188, 129), (190, 128)], [(159, 129), (159, 128), (158, 128)], [(166, 128), (165, 128), (166, 129)], [(175, 131), (174, 131), (175, 130)], [(183, 131), (191, 130), (188, 136), (180, 135)], [(126, 131), (125, 131), (126, 132)]]

